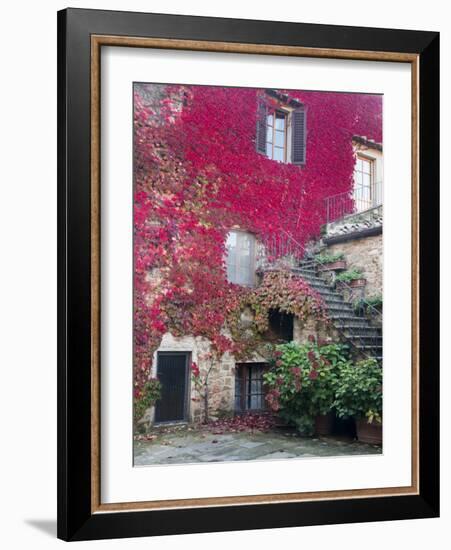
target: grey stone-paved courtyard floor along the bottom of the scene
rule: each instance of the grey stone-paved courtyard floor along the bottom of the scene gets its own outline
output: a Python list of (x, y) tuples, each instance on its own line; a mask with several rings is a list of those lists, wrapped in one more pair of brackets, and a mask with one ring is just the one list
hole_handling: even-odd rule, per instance
[(281, 458), (380, 454), (380, 445), (346, 438), (304, 438), (293, 433), (239, 432), (214, 434), (185, 431), (160, 434), (154, 441), (135, 441), (136, 466)]

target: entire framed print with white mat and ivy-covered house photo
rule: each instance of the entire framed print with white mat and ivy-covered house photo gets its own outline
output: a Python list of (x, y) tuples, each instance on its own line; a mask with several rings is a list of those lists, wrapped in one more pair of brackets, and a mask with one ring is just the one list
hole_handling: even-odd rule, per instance
[(58, 37), (58, 536), (437, 516), (438, 33)]

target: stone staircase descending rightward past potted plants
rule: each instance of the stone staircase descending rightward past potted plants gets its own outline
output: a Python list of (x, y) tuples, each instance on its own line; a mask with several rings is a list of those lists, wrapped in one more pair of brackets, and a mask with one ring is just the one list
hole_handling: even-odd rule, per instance
[(358, 358), (374, 357), (382, 362), (382, 330), (374, 327), (366, 317), (358, 316), (353, 304), (346, 302), (340, 292), (317, 275), (312, 261), (301, 262), (292, 271), (323, 298), (329, 318), (341, 339), (350, 345), (351, 353)]

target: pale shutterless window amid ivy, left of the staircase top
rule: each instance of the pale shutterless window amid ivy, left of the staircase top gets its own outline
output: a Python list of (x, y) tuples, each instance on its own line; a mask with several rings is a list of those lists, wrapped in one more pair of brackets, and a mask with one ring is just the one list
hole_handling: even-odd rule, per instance
[(226, 242), (227, 280), (242, 286), (254, 286), (255, 237), (244, 231), (230, 231)]

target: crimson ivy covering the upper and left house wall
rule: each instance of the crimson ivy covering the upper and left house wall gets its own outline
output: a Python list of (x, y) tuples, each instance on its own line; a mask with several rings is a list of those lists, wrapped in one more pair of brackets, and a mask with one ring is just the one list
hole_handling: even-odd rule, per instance
[[(352, 136), (381, 141), (380, 96), (283, 91), (307, 108), (307, 162), (278, 163), (255, 149), (262, 91), (214, 86), (137, 87), (134, 105), (135, 396), (162, 335), (221, 334), (240, 293), (227, 282), (234, 225), (304, 243), (324, 222), (324, 198), (349, 191)], [(271, 107), (271, 105), (270, 105)], [(274, 105), (272, 105), (274, 108)]]

